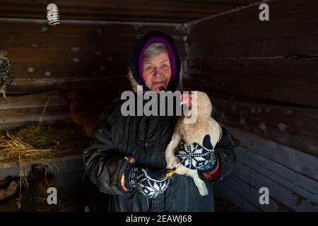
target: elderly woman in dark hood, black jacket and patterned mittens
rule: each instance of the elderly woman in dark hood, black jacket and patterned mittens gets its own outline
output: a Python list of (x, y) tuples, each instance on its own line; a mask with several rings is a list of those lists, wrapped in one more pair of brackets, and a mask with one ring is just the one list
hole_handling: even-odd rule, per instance
[[(149, 32), (137, 42), (130, 59), (129, 79), (143, 91), (177, 90), (181, 59), (170, 35)], [(235, 164), (234, 145), (223, 128), (214, 148), (218, 161), (200, 174), (208, 196), (200, 196), (192, 178), (164, 177), (165, 148), (176, 116), (127, 116), (118, 103), (101, 117), (92, 145), (84, 150), (86, 172), (98, 189), (110, 194), (110, 211), (214, 211), (213, 183), (225, 179)], [(213, 117), (217, 119), (215, 112)]]

